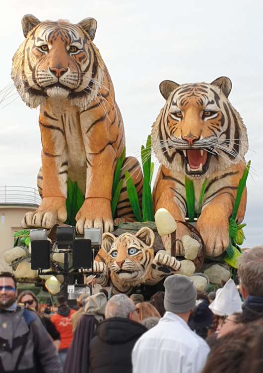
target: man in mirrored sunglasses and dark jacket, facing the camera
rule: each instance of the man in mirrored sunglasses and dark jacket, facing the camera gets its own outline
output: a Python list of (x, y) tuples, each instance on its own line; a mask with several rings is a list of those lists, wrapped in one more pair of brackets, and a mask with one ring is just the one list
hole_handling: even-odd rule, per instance
[(0, 273), (0, 372), (62, 373), (56, 349), (40, 318), (17, 306), (16, 280)]

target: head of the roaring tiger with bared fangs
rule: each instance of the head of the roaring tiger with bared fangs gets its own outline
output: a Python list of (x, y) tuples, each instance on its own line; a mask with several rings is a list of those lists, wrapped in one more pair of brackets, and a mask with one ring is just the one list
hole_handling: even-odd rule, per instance
[(151, 137), (161, 164), (195, 179), (243, 161), (247, 130), (227, 98), (231, 88), (226, 77), (210, 84), (160, 84), (166, 103), (153, 123)]

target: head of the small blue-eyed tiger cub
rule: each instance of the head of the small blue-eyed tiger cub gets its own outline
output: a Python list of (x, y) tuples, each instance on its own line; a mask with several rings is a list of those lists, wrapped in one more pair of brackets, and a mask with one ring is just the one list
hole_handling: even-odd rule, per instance
[(154, 239), (153, 231), (147, 227), (136, 234), (123, 233), (119, 237), (104, 233), (101, 247), (107, 253), (111, 274), (125, 284), (134, 286), (140, 283), (150, 270)]

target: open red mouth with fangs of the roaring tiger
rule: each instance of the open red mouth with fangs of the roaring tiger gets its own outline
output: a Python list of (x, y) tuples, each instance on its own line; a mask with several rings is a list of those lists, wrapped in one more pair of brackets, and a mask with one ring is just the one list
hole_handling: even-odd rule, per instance
[(205, 149), (181, 150), (187, 175), (202, 175), (208, 170), (212, 153)]

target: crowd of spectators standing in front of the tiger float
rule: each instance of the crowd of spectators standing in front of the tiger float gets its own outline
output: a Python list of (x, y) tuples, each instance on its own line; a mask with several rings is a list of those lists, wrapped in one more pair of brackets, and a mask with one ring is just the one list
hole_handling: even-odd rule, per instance
[(31, 291), (17, 297), (0, 274), (0, 372), (260, 373), (263, 370), (263, 248), (245, 251), (238, 286), (197, 291), (169, 276), (149, 301), (105, 289), (42, 314)]

